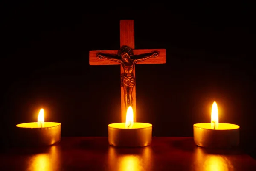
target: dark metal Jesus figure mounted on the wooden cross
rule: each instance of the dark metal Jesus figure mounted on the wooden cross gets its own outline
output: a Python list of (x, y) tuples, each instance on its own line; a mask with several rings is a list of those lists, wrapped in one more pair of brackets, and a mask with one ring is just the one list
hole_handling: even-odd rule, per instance
[(124, 73), (121, 74), (121, 86), (124, 87), (126, 109), (128, 109), (129, 106), (133, 106), (133, 98), (131, 94), (135, 86), (135, 77), (133, 74), (135, 64), (148, 58), (157, 57), (158, 55), (159, 53), (156, 51), (134, 55), (133, 50), (128, 46), (122, 46), (117, 55), (105, 53), (96, 54), (99, 59), (108, 59), (119, 62), (122, 65)]

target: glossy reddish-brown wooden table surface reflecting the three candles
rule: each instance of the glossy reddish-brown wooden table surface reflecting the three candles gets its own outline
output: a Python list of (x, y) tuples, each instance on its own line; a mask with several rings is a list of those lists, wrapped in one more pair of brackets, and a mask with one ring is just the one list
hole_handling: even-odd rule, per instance
[(192, 137), (153, 137), (151, 146), (115, 148), (107, 137), (62, 137), (41, 148), (0, 154), (0, 171), (256, 171), (239, 150), (204, 149)]

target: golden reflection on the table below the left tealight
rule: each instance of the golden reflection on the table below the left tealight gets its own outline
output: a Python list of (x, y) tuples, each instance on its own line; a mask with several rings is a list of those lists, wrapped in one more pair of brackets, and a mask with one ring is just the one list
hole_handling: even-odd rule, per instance
[(51, 146), (48, 153), (35, 154), (30, 161), (29, 171), (56, 171), (60, 167), (58, 147)]

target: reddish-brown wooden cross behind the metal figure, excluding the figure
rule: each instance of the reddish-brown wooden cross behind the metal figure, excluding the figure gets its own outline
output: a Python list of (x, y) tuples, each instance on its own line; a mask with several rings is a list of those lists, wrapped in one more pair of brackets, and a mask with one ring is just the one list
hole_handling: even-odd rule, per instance
[[(156, 58), (149, 58), (144, 61), (138, 62), (137, 64), (165, 64), (166, 63), (166, 50), (165, 49), (135, 49), (134, 45), (134, 20), (120, 20), (120, 47), (128, 46), (133, 49), (134, 55), (140, 55), (144, 53), (152, 53), (157, 51), (159, 55)], [(96, 56), (98, 53), (117, 54), (118, 50), (97, 50), (89, 52), (89, 64), (90, 65), (117, 65), (120, 64), (115, 61), (107, 59), (98, 59)], [(121, 75), (124, 73), (124, 69), (121, 65)], [(134, 66), (134, 77), (135, 77), (135, 66)], [(127, 108), (125, 106), (124, 90), (121, 87), (121, 118), (122, 122), (125, 122)], [(136, 86), (132, 90), (133, 97), (133, 111), (134, 111), (134, 122), (136, 122)]]

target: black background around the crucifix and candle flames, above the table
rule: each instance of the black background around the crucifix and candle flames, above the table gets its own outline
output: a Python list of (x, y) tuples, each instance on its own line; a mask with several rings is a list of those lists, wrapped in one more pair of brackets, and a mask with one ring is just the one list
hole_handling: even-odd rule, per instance
[[(0, 67), (1, 142), (15, 125), (60, 122), (62, 136), (107, 136), (121, 121), (120, 67), (90, 66), (90, 50), (119, 48), (119, 20), (134, 19), (135, 48), (166, 49), (166, 64), (136, 66), (137, 121), (153, 136), (193, 136), (193, 124), (241, 127), (255, 155), (255, 19), (242, 4), (6, 3)], [(177, 5), (177, 6), (176, 6)]]

